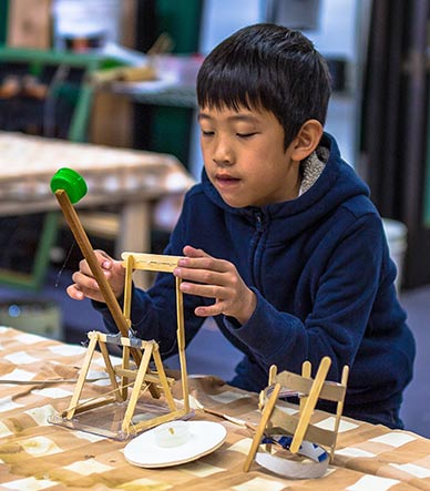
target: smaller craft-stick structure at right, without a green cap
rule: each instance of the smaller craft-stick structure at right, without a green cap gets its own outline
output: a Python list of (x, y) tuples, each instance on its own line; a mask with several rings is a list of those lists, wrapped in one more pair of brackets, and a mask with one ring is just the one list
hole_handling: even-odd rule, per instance
[[(250, 466), (259, 457), (258, 463), (267, 467), (269, 470), (280, 473), (284, 477), (308, 478), (320, 477), (329, 460), (334, 459), (337, 436), (339, 431), (340, 419), (344, 410), (344, 400), (347, 390), (349, 367), (342, 368), (340, 382), (326, 380), (331, 359), (324, 357), (318, 366), (315, 378), (311, 377), (311, 365), (305, 361), (301, 367), (301, 375), (290, 371), (278, 374), (277, 367), (273, 365), (269, 370), (268, 385), (259, 395), (259, 409), (262, 411), (260, 422), (255, 431), (253, 443), (244, 463), (244, 471), (248, 472)], [(284, 406), (279, 405), (279, 399), (285, 397), (299, 397), (298, 412), (288, 412)], [(334, 416), (332, 427), (322, 428), (311, 422), (311, 417), (319, 399), (325, 399), (336, 403), (336, 415)], [(283, 460), (273, 454), (272, 442), (275, 442), (273, 436), (276, 433), (289, 436), (288, 446), (284, 447), (290, 454), (306, 454), (303, 452), (303, 443), (311, 442), (315, 448), (322, 446), (329, 449), (326, 466), (319, 463), (314, 470), (314, 475), (309, 469), (301, 463)], [(266, 443), (265, 452), (260, 450), (263, 441)], [(321, 447), (321, 448), (322, 448)], [(319, 467), (318, 467), (319, 466)], [(310, 472), (313, 472), (310, 470)]]

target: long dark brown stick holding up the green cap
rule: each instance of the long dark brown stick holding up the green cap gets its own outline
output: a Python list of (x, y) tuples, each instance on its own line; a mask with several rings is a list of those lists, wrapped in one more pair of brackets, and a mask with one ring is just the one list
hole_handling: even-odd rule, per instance
[[(119, 328), (122, 336), (129, 337), (129, 326), (121, 311), (120, 304), (117, 303), (117, 299), (112, 291), (111, 285), (104, 276), (104, 273), (99, 264), (90, 239), (88, 238), (88, 235), (82, 227), (79, 216), (69, 200), (68, 193), (64, 190), (57, 190), (55, 197), (61, 206), (64, 218), (83, 254), (83, 257), (86, 259), (91, 273), (94, 275), (94, 278), (99, 284), (100, 290), (103, 295), (103, 299), (106, 303), (106, 306), (113, 317), (116, 327)], [(139, 351), (137, 349), (132, 349), (131, 354), (134, 361), (139, 366), (142, 359), (141, 351)]]

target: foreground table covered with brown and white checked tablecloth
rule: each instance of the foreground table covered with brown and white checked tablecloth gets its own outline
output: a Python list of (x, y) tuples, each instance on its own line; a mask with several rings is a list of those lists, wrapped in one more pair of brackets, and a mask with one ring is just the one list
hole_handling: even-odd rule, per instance
[[(430, 441), (344, 418), (337, 452), (318, 480), (287, 480), (254, 463), (243, 472), (249, 429), (206, 412), (195, 419), (218, 421), (227, 439), (215, 452), (178, 467), (143, 469), (130, 464), (124, 441), (74, 431), (47, 419), (65, 409), (85, 354), (82, 346), (0, 327), (0, 490), (232, 490), (232, 491), (412, 491), (430, 489)], [(101, 357), (91, 375), (101, 374)], [(102, 372), (103, 375), (103, 372)], [(55, 385), (14, 381), (58, 379)], [(6, 383), (8, 382), (8, 383)], [(103, 380), (86, 385), (85, 397), (100, 393)], [(177, 382), (178, 383), (178, 382)], [(211, 376), (190, 377), (191, 393), (204, 407), (257, 423), (257, 395), (234, 389)], [(105, 388), (104, 388), (105, 390)], [(319, 424), (330, 415), (317, 411)]]

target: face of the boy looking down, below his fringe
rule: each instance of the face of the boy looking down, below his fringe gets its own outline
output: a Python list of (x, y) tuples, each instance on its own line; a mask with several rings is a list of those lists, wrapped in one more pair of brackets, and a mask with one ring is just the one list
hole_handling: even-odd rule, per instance
[(297, 197), (299, 162), (272, 112), (201, 108), (201, 145), (208, 178), (231, 206), (263, 206)]

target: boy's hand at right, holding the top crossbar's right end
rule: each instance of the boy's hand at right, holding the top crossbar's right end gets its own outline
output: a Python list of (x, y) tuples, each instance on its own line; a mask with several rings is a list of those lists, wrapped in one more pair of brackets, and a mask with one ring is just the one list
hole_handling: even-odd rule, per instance
[(201, 317), (224, 314), (245, 324), (253, 315), (257, 299), (236, 267), (228, 260), (216, 259), (191, 246), (184, 247), (184, 255), (186, 257), (174, 270), (174, 275), (183, 279), (181, 290), (215, 299), (214, 305), (197, 307), (195, 314)]

